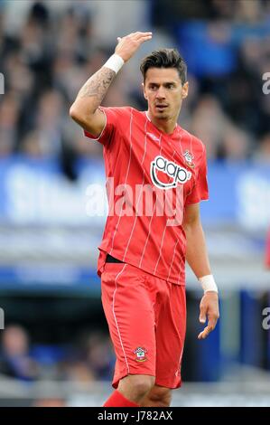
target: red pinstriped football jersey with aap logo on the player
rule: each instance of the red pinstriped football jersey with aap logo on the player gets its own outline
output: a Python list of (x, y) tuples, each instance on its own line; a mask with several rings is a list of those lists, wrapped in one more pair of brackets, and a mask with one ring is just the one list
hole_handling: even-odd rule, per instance
[[(184, 207), (208, 199), (206, 150), (180, 126), (159, 130), (147, 112), (100, 108), (108, 216), (98, 247), (98, 274), (106, 255), (174, 284), (185, 284)], [(85, 135), (92, 137), (87, 131)]]

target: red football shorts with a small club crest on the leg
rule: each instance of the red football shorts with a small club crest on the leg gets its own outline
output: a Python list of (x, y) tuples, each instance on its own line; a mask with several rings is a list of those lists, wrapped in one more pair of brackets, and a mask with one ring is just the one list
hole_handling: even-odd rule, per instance
[(156, 385), (181, 386), (186, 332), (184, 285), (125, 263), (106, 263), (102, 304), (116, 352), (113, 387), (128, 374), (155, 376)]

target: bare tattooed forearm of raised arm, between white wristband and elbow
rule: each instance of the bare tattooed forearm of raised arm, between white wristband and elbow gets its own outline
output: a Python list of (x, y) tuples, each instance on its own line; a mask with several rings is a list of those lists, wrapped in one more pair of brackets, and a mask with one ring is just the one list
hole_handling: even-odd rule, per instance
[(84, 108), (88, 109), (88, 113), (94, 113), (115, 77), (115, 71), (102, 67), (82, 86), (74, 103), (81, 102)]

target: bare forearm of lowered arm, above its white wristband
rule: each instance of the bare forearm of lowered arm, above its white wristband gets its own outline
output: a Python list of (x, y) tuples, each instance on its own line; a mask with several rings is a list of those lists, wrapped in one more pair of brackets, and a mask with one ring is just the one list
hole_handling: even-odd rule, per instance
[(200, 222), (187, 226), (185, 232), (187, 237), (186, 259), (192, 271), (198, 279), (211, 274), (204, 232)]

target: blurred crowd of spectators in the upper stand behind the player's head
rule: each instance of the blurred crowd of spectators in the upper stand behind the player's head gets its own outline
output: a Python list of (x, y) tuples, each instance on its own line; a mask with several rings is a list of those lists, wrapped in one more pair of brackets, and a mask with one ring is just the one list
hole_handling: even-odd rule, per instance
[[(68, 3), (60, 13), (47, 2), (30, 2), (14, 32), (5, 25), (5, 3), (0, 9), (5, 75), (0, 156), (57, 158), (71, 180), (79, 157), (101, 156), (102, 150), (71, 122), (70, 105), (116, 44), (98, 39), (85, 3)], [(270, 162), (270, 96), (262, 90), (263, 74), (270, 70), (270, 2), (145, 3), (147, 29), (163, 31), (188, 63), (190, 95), (182, 127), (203, 140), (211, 159)], [(122, 71), (105, 106), (146, 108), (132, 72), (139, 74), (139, 63), (128, 75)]]

